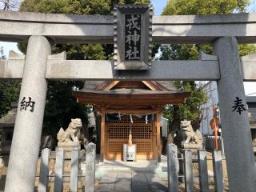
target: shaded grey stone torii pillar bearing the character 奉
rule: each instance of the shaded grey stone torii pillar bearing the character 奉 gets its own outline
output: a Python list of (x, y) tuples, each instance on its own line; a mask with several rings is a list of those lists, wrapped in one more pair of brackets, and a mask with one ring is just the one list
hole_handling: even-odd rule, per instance
[(218, 38), (214, 52), (221, 74), (217, 82), (218, 99), (230, 191), (253, 192), (256, 191), (254, 151), (237, 39)]

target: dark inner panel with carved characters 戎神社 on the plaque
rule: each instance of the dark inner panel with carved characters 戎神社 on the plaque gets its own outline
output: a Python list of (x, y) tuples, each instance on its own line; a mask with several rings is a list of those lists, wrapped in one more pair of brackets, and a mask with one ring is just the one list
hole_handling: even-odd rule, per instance
[(141, 59), (141, 22), (140, 14), (126, 14), (126, 42), (125, 52), (126, 60)]

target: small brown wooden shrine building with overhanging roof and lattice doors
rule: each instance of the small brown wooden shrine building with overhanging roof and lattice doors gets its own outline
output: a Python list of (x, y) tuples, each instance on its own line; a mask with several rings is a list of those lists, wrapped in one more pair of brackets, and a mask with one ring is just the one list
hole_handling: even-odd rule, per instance
[(93, 104), (102, 116), (101, 158), (122, 159), (123, 144), (137, 146), (137, 159), (161, 157), (160, 118), (166, 104), (185, 102), (190, 93), (177, 90), (173, 82), (88, 81), (74, 91), (78, 102)]

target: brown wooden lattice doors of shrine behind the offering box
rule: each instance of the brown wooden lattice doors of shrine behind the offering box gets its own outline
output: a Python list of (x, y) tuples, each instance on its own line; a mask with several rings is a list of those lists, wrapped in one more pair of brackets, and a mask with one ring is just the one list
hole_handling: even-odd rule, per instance
[[(128, 142), (130, 117), (106, 123), (106, 158), (122, 159), (123, 144)], [(133, 143), (137, 144), (137, 159), (153, 159), (153, 123), (133, 116)]]

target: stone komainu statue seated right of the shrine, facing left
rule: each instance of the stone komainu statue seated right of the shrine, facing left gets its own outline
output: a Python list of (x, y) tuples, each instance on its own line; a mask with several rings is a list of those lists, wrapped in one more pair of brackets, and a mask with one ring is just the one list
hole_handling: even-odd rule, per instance
[(194, 132), (190, 121), (181, 121), (180, 129), (182, 131), (182, 143), (202, 145), (202, 134), (199, 130), (196, 130), (196, 132)]

